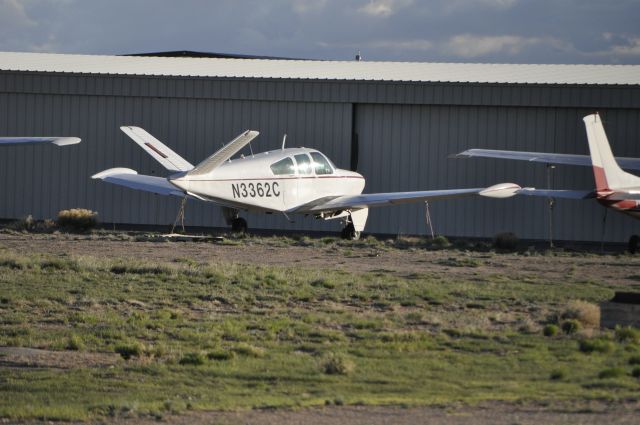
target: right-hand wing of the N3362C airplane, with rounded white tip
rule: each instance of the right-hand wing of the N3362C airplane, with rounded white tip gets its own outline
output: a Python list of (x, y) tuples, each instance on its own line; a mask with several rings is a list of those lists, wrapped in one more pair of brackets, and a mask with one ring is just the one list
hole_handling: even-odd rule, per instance
[(520, 186), (514, 183), (501, 183), (488, 188), (426, 190), (419, 192), (369, 193), (363, 195), (337, 196), (321, 198), (288, 212), (323, 212), (338, 210), (358, 210), (363, 208), (384, 207), (409, 202), (462, 198), (467, 196), (486, 196), (490, 198), (508, 198), (515, 195)]

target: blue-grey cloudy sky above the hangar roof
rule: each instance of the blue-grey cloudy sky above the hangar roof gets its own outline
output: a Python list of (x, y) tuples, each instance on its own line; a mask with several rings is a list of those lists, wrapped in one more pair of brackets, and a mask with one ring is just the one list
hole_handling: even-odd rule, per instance
[(640, 64), (640, 0), (0, 0), (0, 50)]

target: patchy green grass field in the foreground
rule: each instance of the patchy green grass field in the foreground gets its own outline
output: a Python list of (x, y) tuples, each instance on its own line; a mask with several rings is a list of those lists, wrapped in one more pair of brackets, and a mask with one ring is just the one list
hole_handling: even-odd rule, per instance
[[(446, 261), (477, 266), (455, 250)], [(562, 281), (507, 271), (448, 279), (428, 268), (349, 272), (179, 252), (147, 263), (0, 246), (0, 287), (0, 346), (74, 359), (25, 367), (0, 355), (5, 418), (640, 394), (638, 331), (591, 329), (593, 318), (572, 312), (572, 300), (588, 307), (613, 287), (571, 270)], [(113, 362), (92, 363), (97, 353)]]

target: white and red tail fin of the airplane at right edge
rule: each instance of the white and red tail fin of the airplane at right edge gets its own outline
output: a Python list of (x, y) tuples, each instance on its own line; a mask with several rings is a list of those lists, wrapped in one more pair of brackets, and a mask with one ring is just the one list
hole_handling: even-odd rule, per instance
[(596, 191), (608, 191), (640, 184), (640, 177), (623, 171), (616, 162), (600, 115), (597, 113), (587, 115), (583, 121), (587, 129)]

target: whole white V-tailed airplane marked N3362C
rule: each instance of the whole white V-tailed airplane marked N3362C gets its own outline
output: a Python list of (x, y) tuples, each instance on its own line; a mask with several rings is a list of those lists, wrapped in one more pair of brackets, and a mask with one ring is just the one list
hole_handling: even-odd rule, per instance
[(219, 151), (193, 166), (139, 127), (120, 127), (172, 174), (166, 178), (139, 175), (128, 168), (112, 168), (92, 178), (160, 195), (210, 201), (222, 207), (233, 231), (244, 232), (240, 211), (312, 215), (342, 219), (342, 236), (357, 239), (365, 227), (369, 208), (480, 195), (513, 196), (520, 186), (503, 183), (479, 189), (363, 194), (365, 180), (356, 172), (337, 168), (314, 149), (285, 148), (231, 159), (259, 133), (247, 130)]

